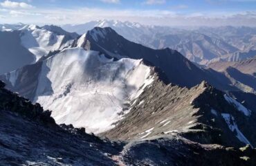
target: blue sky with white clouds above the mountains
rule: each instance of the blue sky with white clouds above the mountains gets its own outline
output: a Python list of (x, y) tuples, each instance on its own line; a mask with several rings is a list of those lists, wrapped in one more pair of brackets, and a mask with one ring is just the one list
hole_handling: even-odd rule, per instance
[(0, 0), (1, 23), (82, 24), (95, 19), (256, 26), (256, 0)]

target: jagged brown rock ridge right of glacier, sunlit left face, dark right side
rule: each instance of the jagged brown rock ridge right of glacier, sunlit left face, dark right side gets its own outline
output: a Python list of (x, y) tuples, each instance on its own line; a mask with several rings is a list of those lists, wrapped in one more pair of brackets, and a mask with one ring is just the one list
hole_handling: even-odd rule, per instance
[[(157, 80), (134, 101), (125, 118), (103, 135), (136, 140), (172, 134), (203, 144), (241, 147), (248, 142), (239, 138), (238, 131), (255, 146), (256, 136), (251, 133), (256, 125), (255, 113), (243, 108), (250, 111), (248, 115), (239, 110), (242, 105), (228, 100), (231, 100), (228, 95), (206, 82), (187, 89), (173, 84), (166, 86)], [(233, 120), (227, 122), (225, 116)], [(235, 131), (233, 123), (241, 131)]]

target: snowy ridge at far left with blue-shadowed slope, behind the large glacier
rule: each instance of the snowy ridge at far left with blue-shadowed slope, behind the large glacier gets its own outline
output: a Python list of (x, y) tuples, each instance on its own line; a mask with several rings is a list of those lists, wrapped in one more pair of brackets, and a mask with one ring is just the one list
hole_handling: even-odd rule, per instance
[(0, 30), (0, 74), (33, 64), (48, 54), (69, 47), (79, 36), (57, 26), (18, 24), (8, 27), (12, 29)]

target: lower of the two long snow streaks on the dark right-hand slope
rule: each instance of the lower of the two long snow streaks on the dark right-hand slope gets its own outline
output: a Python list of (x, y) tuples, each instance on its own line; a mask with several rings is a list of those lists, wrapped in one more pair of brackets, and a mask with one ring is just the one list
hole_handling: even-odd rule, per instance
[(244, 142), (246, 145), (250, 145), (251, 147), (253, 147), (249, 140), (244, 136), (243, 133), (241, 133), (241, 131), (238, 129), (237, 124), (235, 122), (235, 118), (233, 116), (230, 116), (229, 113), (221, 113), (221, 116), (224, 118), (224, 120), (226, 121), (226, 123), (228, 124), (228, 128), (234, 132), (236, 131), (237, 133), (237, 138), (241, 141)]

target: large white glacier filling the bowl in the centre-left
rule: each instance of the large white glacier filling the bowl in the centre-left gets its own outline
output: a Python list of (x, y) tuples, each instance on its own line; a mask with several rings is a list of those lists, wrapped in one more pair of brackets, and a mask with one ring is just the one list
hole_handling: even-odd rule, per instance
[(95, 51), (66, 48), (42, 64), (34, 102), (53, 110), (59, 124), (100, 133), (114, 127), (133, 94), (150, 84), (150, 71), (141, 60), (113, 62)]

